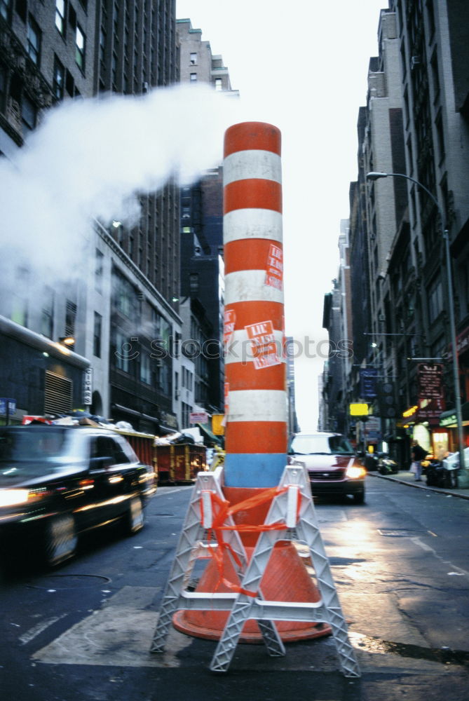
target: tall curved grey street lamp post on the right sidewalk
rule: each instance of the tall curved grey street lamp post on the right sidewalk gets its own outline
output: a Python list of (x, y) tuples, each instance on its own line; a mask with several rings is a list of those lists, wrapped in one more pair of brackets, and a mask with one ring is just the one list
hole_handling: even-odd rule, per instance
[(447, 229), (447, 220), (444, 216), (442, 207), (438, 202), (437, 198), (433, 193), (426, 188), (421, 182), (411, 177), (410, 175), (405, 175), (404, 173), (383, 173), (383, 172), (369, 172), (367, 173), (368, 180), (379, 180), (383, 177), (403, 177), (411, 182), (414, 182), (418, 187), (420, 187), (424, 192), (427, 193), (428, 197), (437, 207), (438, 213), (440, 214), (440, 221), (443, 228), (443, 239), (444, 239), (444, 253), (446, 258), (447, 267), (447, 283), (448, 283), (448, 305), (449, 305), (449, 328), (451, 334), (451, 355), (453, 360), (453, 382), (454, 382), (454, 401), (456, 404), (456, 423), (458, 428), (458, 453), (459, 453), (459, 467), (460, 467), (460, 485), (469, 486), (469, 474), (465, 470), (464, 461), (464, 437), (463, 437), (463, 412), (461, 409), (461, 391), (459, 389), (459, 371), (458, 371), (458, 350), (456, 348), (456, 321), (454, 319), (454, 298), (453, 298), (453, 274), (451, 271), (451, 255), (449, 252), (449, 231)]

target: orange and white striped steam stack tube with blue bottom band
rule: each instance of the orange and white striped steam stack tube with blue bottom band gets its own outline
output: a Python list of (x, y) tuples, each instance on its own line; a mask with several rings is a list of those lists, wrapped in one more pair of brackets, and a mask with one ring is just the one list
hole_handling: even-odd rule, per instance
[(262, 122), (224, 141), (225, 485), (276, 486), (286, 464), (281, 136)]

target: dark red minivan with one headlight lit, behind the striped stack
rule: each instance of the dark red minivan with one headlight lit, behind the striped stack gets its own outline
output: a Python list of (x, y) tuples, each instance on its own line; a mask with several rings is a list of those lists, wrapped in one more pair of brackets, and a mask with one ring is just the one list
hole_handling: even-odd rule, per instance
[(313, 496), (353, 497), (356, 504), (365, 501), (365, 475), (350, 442), (339, 433), (301, 432), (290, 438), (290, 462), (306, 465)]

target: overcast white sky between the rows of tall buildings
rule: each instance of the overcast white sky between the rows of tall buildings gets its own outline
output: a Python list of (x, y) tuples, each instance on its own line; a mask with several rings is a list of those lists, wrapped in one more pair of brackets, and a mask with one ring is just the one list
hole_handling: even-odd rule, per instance
[[(282, 132), (286, 332), (303, 344), (308, 337), (309, 355), (318, 356), (327, 339), (324, 294), (337, 276), (340, 222), (357, 176), (358, 108), (388, 1), (177, 0), (176, 7), (177, 18), (190, 18), (223, 56), (245, 119)], [(295, 360), (302, 429), (317, 425), (323, 363), (304, 354)]]

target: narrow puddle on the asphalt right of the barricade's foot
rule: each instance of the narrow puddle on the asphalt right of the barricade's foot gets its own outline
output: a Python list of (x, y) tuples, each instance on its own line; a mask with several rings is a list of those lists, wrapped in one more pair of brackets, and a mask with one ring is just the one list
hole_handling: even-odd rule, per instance
[(381, 640), (369, 635), (349, 631), (349, 637), (355, 647), (368, 653), (390, 653), (400, 657), (414, 660), (428, 660), (440, 662), (442, 665), (460, 665), (469, 667), (469, 652), (465, 650), (452, 650), (451, 648), (424, 648), (420, 645), (408, 643), (395, 643), (390, 640)]

